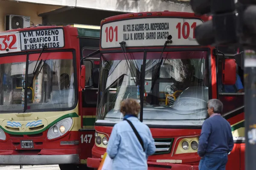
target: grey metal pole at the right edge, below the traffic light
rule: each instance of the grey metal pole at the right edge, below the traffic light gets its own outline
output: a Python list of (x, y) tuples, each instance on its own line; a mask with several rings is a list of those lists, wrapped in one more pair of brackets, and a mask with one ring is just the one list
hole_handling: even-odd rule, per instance
[(256, 167), (256, 53), (254, 50), (245, 50), (244, 55), (245, 170), (254, 170)]

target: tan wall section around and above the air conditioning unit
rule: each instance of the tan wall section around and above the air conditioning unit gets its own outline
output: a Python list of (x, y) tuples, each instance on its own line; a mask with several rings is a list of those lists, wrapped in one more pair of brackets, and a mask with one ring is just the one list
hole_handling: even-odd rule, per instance
[(38, 14), (49, 12), (61, 8), (61, 6), (40, 5), (32, 3), (17, 3), (12, 1), (0, 0), (0, 31), (4, 31), (5, 15), (15, 14), (30, 16), (31, 24), (42, 24), (42, 17)]

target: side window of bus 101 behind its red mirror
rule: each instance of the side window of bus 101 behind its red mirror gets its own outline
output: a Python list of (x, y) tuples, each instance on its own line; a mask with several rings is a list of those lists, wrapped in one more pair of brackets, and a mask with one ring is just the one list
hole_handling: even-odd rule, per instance
[(222, 73), (223, 59), (218, 60), (218, 96), (223, 105), (223, 113), (234, 111), (244, 105), (244, 71), (238, 65), (235, 85), (223, 85)]

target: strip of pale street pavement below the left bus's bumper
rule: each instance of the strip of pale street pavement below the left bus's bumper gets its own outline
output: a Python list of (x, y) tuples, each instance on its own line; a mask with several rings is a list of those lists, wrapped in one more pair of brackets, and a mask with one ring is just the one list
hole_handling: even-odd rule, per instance
[[(19, 170), (20, 166), (0, 166), (0, 170)], [(60, 170), (58, 165), (23, 166), (21, 170)]]

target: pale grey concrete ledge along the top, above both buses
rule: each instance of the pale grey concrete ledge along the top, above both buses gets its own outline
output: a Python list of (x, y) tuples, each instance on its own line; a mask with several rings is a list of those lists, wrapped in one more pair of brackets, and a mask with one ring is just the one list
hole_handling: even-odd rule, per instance
[(185, 11), (192, 12), (189, 0), (15, 0), (19, 2), (73, 6), (106, 11)]

